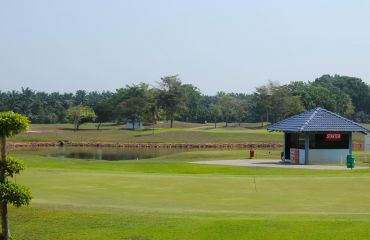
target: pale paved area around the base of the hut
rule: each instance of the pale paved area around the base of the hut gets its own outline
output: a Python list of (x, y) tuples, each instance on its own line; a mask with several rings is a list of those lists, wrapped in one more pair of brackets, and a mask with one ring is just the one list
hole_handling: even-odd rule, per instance
[[(226, 166), (245, 166), (245, 167), (273, 167), (273, 168), (300, 168), (300, 169), (321, 169), (321, 170), (346, 170), (345, 166), (328, 165), (295, 165), (283, 163), (281, 160), (213, 160), (191, 162), (195, 164), (226, 165)], [(355, 167), (354, 169), (369, 169), (368, 167)], [(350, 169), (348, 169), (350, 170)]]

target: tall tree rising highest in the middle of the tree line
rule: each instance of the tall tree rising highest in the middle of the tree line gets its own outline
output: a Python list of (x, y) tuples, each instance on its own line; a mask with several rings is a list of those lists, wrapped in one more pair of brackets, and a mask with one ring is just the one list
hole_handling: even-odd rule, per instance
[(176, 114), (184, 109), (184, 92), (178, 75), (165, 76), (161, 78), (158, 90), (158, 104), (164, 109), (173, 127)]

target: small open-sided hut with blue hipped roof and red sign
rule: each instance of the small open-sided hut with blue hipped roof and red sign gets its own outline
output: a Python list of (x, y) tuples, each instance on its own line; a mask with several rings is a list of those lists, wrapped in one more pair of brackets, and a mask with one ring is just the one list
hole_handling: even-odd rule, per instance
[(352, 133), (369, 129), (323, 108), (311, 109), (267, 128), (284, 132), (283, 161), (295, 164), (345, 163)]

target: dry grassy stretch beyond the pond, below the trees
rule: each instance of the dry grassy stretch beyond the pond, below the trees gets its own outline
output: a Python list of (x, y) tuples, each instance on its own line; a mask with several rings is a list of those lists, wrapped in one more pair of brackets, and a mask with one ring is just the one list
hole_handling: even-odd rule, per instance
[[(223, 124), (221, 124), (223, 126)], [(219, 125), (219, 126), (221, 126)], [(13, 142), (125, 142), (125, 143), (282, 143), (283, 134), (258, 129), (258, 124), (231, 125), (228, 128), (213, 128), (212, 124), (175, 122), (170, 129), (159, 123), (152, 129), (126, 130), (124, 126), (102, 125), (96, 130), (93, 123), (84, 124), (80, 131), (74, 132), (71, 124), (32, 124), (31, 131), (11, 139)], [(363, 135), (354, 134), (354, 141), (363, 142)]]

